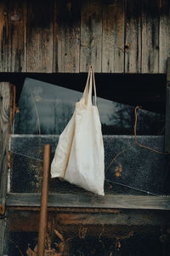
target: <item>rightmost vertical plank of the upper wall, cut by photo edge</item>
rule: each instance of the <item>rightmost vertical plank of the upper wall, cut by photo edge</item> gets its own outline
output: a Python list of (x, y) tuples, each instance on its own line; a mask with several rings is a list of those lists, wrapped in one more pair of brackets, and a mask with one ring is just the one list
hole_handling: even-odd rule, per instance
[(170, 57), (170, 1), (160, 0), (159, 73), (167, 73)]

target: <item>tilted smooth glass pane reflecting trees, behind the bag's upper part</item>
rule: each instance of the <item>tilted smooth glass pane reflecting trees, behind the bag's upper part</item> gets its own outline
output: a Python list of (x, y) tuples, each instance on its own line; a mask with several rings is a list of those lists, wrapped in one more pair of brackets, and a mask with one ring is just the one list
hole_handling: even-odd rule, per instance
[[(59, 135), (81, 97), (82, 92), (77, 90), (26, 79), (18, 103), (20, 112), (15, 115), (14, 133)], [(133, 134), (134, 107), (101, 97), (97, 102), (103, 134)], [(163, 114), (139, 109), (139, 135), (161, 135), (163, 128)]]

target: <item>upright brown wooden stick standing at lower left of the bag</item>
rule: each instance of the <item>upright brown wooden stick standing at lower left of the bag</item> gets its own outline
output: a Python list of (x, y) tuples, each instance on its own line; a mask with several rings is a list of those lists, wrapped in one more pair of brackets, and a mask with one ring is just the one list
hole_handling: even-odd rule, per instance
[(41, 211), (39, 220), (39, 234), (37, 242), (37, 256), (44, 255), (45, 236), (47, 230), (47, 212), (48, 212), (48, 173), (50, 160), (50, 145), (44, 145), (43, 152), (43, 174), (42, 174), (42, 197)]

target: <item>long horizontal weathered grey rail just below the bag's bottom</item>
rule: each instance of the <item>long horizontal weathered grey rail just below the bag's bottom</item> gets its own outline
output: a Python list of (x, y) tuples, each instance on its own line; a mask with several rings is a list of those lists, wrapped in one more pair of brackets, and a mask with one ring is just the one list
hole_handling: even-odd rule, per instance
[[(41, 195), (9, 193), (7, 206), (40, 207)], [(48, 207), (170, 210), (169, 196), (48, 194)]]

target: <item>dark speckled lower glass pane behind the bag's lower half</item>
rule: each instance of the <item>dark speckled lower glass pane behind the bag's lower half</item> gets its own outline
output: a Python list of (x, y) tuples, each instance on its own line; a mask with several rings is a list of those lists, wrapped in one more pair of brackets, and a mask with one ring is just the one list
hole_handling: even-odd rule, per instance
[[(41, 192), (43, 146), (47, 143), (51, 145), (51, 162), (58, 140), (59, 136), (51, 135), (11, 137), (11, 192)], [(138, 136), (137, 140), (160, 152), (164, 150), (162, 136)], [(167, 155), (135, 145), (134, 137), (128, 135), (104, 136), (104, 146), (105, 194), (169, 195)], [(58, 178), (49, 179), (48, 189), (57, 193), (88, 193), (70, 183), (61, 182)]]

